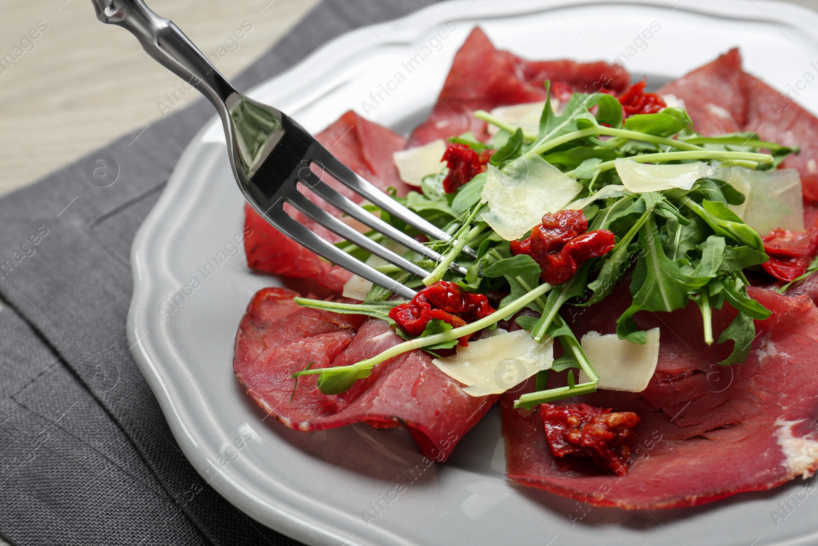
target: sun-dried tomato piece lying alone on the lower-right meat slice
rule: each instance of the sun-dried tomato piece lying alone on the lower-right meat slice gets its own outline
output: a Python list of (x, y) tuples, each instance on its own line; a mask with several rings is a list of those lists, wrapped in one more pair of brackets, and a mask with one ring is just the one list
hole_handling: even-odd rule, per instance
[(600, 468), (627, 474), (636, 413), (611, 413), (611, 408), (589, 404), (542, 404), (540, 414), (555, 457), (591, 457)]

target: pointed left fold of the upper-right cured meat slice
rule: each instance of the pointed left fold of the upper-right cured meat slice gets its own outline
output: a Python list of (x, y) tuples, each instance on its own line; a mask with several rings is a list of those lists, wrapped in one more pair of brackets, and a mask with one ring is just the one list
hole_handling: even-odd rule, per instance
[(667, 83), (657, 93), (683, 99), (693, 129), (705, 136), (744, 130), (747, 98), (738, 49)]

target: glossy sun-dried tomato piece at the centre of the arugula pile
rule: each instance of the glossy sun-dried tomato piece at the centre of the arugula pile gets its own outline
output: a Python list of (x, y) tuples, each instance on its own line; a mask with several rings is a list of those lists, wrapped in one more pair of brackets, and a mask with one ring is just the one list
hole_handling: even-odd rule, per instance
[(542, 268), (543, 282), (558, 285), (569, 280), (587, 259), (597, 258), (616, 244), (613, 232), (586, 232), (588, 221), (582, 210), (560, 210), (542, 217), (524, 241), (511, 241), (511, 253), (528, 254)]

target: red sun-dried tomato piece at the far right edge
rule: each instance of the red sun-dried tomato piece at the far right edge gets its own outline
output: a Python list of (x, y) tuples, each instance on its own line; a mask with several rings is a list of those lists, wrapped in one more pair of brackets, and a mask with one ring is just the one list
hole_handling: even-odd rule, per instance
[(818, 252), (818, 229), (806, 232), (775, 228), (765, 237), (764, 251), (770, 259), (762, 268), (782, 281), (792, 281), (807, 272), (812, 256)]

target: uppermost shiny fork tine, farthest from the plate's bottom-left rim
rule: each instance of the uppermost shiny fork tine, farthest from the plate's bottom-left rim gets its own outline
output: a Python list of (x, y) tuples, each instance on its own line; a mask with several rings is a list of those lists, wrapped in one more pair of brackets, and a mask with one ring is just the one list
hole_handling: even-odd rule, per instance
[[(326, 151), (326, 149), (322, 151), (324, 153), (317, 154), (317, 157), (315, 158), (317, 165), (319, 165), (321, 169), (326, 170), (326, 172), (331, 174), (340, 183), (344, 184), (344, 186), (348, 187), (353, 192), (356, 192), (359, 196), (362, 196), (364, 199), (366, 199), (366, 201), (370, 201), (372, 204), (378, 205), (381, 209), (386, 210), (395, 218), (401, 219), (403, 222), (408, 223), (412, 228), (416, 228), (418, 231), (424, 232), (429, 237), (440, 241), (448, 241), (452, 238), (452, 236), (447, 232), (444, 232), (434, 224), (427, 222), (425, 219), (420, 218), (420, 216), (407, 209), (405, 206), (401, 205), (384, 192), (381, 192), (380, 189), (373, 186), (371, 183), (366, 182), (365, 179), (361, 178), (352, 169), (349, 169), (346, 165), (341, 163), (337, 158), (335, 158), (335, 156), (330, 154), (329, 151)], [(470, 248), (463, 249), (463, 252), (472, 256), (473, 258), (477, 257), (474, 250)]]

